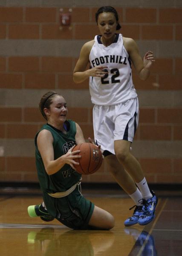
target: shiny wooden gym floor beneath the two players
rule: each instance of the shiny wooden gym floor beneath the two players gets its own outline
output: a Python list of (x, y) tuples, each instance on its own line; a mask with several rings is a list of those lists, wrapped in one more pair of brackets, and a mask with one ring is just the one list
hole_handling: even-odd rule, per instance
[[(39, 193), (0, 191), (0, 255), (2, 256), (181, 256), (182, 195), (157, 192), (156, 218), (146, 226), (124, 227), (133, 212), (130, 198), (112, 190), (82, 190), (116, 220), (110, 231), (71, 230), (57, 220), (30, 218), (27, 207), (40, 204)], [(156, 191), (155, 191), (156, 192)], [(156, 194), (157, 194), (156, 193)]]

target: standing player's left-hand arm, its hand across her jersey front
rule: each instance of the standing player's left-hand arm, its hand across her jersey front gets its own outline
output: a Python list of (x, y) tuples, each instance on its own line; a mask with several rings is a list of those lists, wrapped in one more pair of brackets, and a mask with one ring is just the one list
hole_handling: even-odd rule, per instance
[(73, 70), (73, 81), (75, 83), (81, 83), (90, 76), (104, 77), (104, 75), (107, 73), (103, 71), (103, 69), (107, 68), (106, 66), (94, 67), (86, 70), (93, 44), (94, 40), (87, 42), (81, 48), (79, 59), (75, 65), (75, 69)]

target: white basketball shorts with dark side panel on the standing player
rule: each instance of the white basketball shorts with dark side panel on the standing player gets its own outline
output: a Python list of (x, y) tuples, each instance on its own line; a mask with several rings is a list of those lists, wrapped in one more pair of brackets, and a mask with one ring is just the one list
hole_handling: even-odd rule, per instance
[(95, 105), (93, 108), (93, 129), (95, 142), (101, 150), (112, 154), (115, 140), (128, 140), (133, 137), (139, 123), (138, 98), (129, 99), (117, 105)]

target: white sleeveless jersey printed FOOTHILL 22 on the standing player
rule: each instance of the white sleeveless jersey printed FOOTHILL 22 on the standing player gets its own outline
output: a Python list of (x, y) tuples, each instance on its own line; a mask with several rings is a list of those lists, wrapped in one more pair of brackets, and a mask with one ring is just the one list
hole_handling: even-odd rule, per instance
[(92, 103), (115, 105), (137, 97), (132, 81), (129, 55), (123, 45), (123, 37), (116, 34), (115, 41), (105, 47), (101, 37), (95, 36), (90, 51), (90, 67), (107, 66), (104, 78), (90, 77), (89, 87)]

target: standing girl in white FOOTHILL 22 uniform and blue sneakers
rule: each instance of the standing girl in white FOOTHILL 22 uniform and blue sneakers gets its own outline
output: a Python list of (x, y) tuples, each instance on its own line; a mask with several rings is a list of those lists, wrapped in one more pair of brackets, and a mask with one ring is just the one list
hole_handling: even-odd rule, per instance
[(153, 65), (153, 52), (148, 51), (142, 60), (135, 41), (116, 33), (121, 26), (113, 7), (99, 8), (95, 19), (100, 35), (82, 47), (73, 80), (81, 83), (90, 78), (95, 142), (101, 145), (118, 184), (136, 203), (133, 216), (124, 225), (145, 225), (155, 216), (157, 197), (148, 188), (142, 168), (130, 152), (139, 120), (131, 63), (140, 79), (146, 80)]

